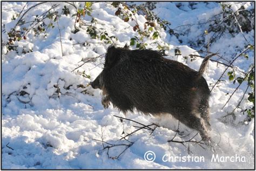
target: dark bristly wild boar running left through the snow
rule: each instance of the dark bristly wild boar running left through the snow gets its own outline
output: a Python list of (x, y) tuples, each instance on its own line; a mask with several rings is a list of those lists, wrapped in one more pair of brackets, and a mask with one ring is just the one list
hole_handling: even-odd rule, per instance
[(112, 102), (123, 112), (136, 108), (144, 114), (170, 113), (210, 140), (210, 90), (202, 75), (213, 55), (204, 59), (197, 72), (157, 51), (110, 46), (104, 69), (91, 86), (103, 90), (104, 107)]

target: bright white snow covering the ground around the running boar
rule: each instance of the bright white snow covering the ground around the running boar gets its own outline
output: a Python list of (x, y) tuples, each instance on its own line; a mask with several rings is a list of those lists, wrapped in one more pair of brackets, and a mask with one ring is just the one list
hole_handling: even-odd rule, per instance
[[(8, 42), (7, 32), (16, 25), (17, 19), (12, 20), (25, 5), (25, 2), (3, 2), (2, 3), (2, 39)], [(24, 11), (36, 2), (29, 2)], [(53, 22), (54, 28), (49, 28), (46, 36), (39, 36), (30, 33), (26, 39), (14, 45), (16, 51), (7, 53), (6, 47), (2, 49), (2, 168), (3, 169), (88, 169), (88, 168), (114, 168), (114, 169), (220, 169), (220, 168), (254, 168), (254, 119), (250, 122), (244, 122), (246, 114), (235, 112), (237, 119), (234, 122), (230, 120), (221, 120), (228, 112), (232, 112), (238, 101), (242, 97), (246, 84), (242, 85), (233, 95), (226, 107), (221, 110), (229, 95), (237, 85), (228, 80), (227, 74), (218, 87), (212, 91), (210, 98), (210, 117), (211, 117), (211, 136), (214, 142), (218, 143), (216, 153), (212, 153), (210, 148), (202, 148), (195, 143), (185, 143), (188, 149), (181, 143), (167, 142), (176, 135), (175, 130), (178, 127), (178, 121), (170, 115), (163, 115), (154, 118), (139, 113), (129, 113), (125, 116), (119, 113), (111, 105), (104, 110), (101, 104), (101, 91), (93, 90), (86, 85), (93, 81), (103, 69), (104, 56), (96, 58), (95, 61), (86, 63), (79, 67), (79, 72), (71, 72), (78, 65), (83, 64), (82, 59), (97, 57), (106, 52), (109, 44), (96, 44), (99, 39), (91, 39), (82, 29), (77, 33), (72, 33), (76, 16), (71, 17), (75, 8), (68, 3), (44, 3), (36, 6), (26, 13), (26, 21), (35, 19), (36, 15), (51, 8), (52, 4), (66, 5), (69, 8), (70, 15), (59, 17), (58, 23)], [(78, 7), (79, 4), (75, 3)], [(187, 4), (182, 3), (183, 7), (177, 8), (174, 3), (158, 3), (154, 12), (160, 18), (169, 20), (172, 28), (179, 25), (194, 23), (197, 20), (203, 20), (211, 17), (221, 10), (217, 3), (203, 4), (199, 3), (194, 10), (187, 9)], [(239, 4), (236, 4), (239, 5)], [(235, 6), (235, 4), (234, 4)], [(253, 4), (248, 4), (252, 8)], [(56, 8), (59, 12), (62, 8)], [(104, 2), (94, 3), (92, 5), (91, 15), (97, 20), (95, 25), (98, 29), (102, 28), (109, 36), (116, 36), (116, 44), (124, 46), (130, 44), (130, 39), (137, 36), (132, 27), (133, 21), (124, 22), (114, 13), (117, 8)], [(181, 10), (182, 9), (182, 10)], [(91, 17), (85, 15), (82, 17), (85, 23), (90, 23)], [(138, 23), (145, 23), (143, 16), (137, 16)], [(50, 24), (51, 20), (46, 18), (45, 22)], [(59, 26), (58, 26), (58, 25)], [(62, 50), (60, 47), (60, 35), (62, 35)], [(184, 42), (193, 36), (199, 36), (204, 32), (204, 28), (193, 28), (194, 35), (184, 37)], [(170, 50), (166, 53), (166, 58), (176, 60), (174, 49), (179, 47), (182, 56), (197, 54), (196, 50), (188, 47), (186, 44), (180, 44), (174, 37), (170, 37), (163, 29), (160, 32), (161, 38), (165, 40)], [(245, 33), (245, 37), (251, 44), (254, 44), (254, 30)], [(228, 54), (232, 49), (244, 47), (240, 43), (244, 40), (242, 35), (231, 38), (228, 34), (224, 35), (211, 47), (211, 51)], [(150, 44), (155, 40), (145, 39), (147, 48), (157, 50), (157, 44)], [(159, 40), (160, 42), (161, 40)], [(86, 46), (78, 43), (87, 42)], [(160, 42), (163, 43), (163, 42)], [(76, 44), (76, 45), (74, 45)], [(235, 47), (235, 48), (234, 48)], [(130, 47), (134, 49), (134, 47)], [(30, 51), (22, 53), (23, 51)], [(234, 53), (234, 52), (233, 52)], [(246, 71), (250, 63), (254, 63), (254, 54), (249, 53), (249, 59), (237, 60), (237, 65), (241, 71)], [(186, 61), (182, 56), (178, 61), (198, 70), (203, 59), (197, 58), (194, 61)], [(232, 59), (231, 56), (226, 56)], [(214, 84), (225, 66), (217, 65), (210, 61), (208, 73), (204, 74), (208, 84)], [(86, 74), (83, 77), (81, 72)], [(87, 90), (87, 91), (84, 91)], [(245, 98), (247, 98), (245, 96)], [(252, 105), (246, 100), (242, 101), (241, 108)], [(117, 146), (102, 151), (102, 142), (118, 145), (130, 144), (127, 140), (120, 140), (126, 134), (135, 131), (137, 128), (132, 121), (120, 121), (117, 117), (126, 117), (142, 124), (156, 123), (157, 127), (152, 134), (151, 131), (142, 129), (127, 138), (134, 142), (132, 146), (120, 155), (117, 160), (110, 157), (118, 156), (126, 146)], [(181, 125), (179, 127), (185, 138), (177, 135), (177, 141), (188, 140), (197, 132)], [(183, 135), (183, 136), (184, 136)], [(200, 140), (197, 135), (196, 140)], [(106, 147), (107, 144), (105, 143)], [(12, 149), (11, 149), (12, 148)], [(152, 151), (156, 154), (153, 162), (147, 162), (144, 154)], [(234, 156), (237, 160), (211, 161), (213, 154), (220, 156)], [(165, 156), (165, 157), (164, 157)], [(203, 156), (204, 161), (166, 161), (167, 156), (188, 157)], [(164, 158), (163, 158), (164, 157)], [(238, 160), (240, 159), (240, 162)], [(187, 159), (187, 158), (186, 158)], [(245, 159), (245, 162), (244, 162)]]

